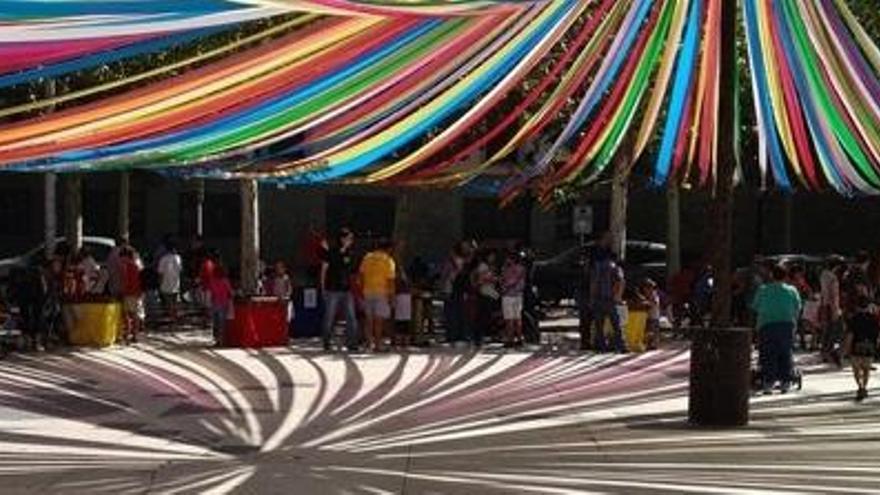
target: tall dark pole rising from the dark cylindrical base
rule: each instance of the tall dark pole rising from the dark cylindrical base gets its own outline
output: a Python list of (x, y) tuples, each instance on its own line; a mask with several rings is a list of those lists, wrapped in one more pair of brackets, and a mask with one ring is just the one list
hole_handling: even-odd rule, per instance
[(710, 222), (715, 232), (709, 246), (715, 270), (712, 322), (731, 323), (733, 250), (733, 177), (736, 170), (736, 15), (737, 2), (721, 2), (721, 74), (718, 101), (718, 164)]

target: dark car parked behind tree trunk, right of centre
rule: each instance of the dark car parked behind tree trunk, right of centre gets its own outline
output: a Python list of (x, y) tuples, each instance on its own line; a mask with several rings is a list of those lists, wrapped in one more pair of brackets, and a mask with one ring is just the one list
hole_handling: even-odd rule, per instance
[[(539, 259), (532, 266), (532, 284), (544, 303), (558, 305), (585, 289), (586, 267), (595, 242), (570, 247), (550, 258)], [(666, 280), (666, 245), (647, 241), (626, 241), (623, 264), (628, 289), (645, 277), (661, 286)]]

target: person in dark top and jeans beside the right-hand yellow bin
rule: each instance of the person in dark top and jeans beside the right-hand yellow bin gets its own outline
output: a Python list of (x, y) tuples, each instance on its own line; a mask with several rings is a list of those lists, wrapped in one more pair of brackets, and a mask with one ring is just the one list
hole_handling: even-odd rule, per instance
[[(623, 341), (623, 328), (620, 321), (618, 306), (623, 304), (623, 292), (626, 278), (623, 269), (617, 263), (617, 256), (610, 251), (594, 257), (590, 268), (590, 316), (592, 321), (587, 328), (595, 325), (594, 348), (598, 352), (607, 352), (608, 343), (605, 339), (605, 322), (611, 322), (614, 332), (614, 348), (617, 352), (627, 352)], [(582, 335), (583, 339), (585, 336)], [(583, 344), (581, 344), (583, 347)]]

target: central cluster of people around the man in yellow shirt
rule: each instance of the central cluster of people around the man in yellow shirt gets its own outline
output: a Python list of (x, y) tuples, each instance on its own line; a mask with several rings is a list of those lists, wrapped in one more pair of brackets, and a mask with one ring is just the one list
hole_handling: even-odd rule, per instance
[(444, 302), (446, 340), (453, 345), (480, 347), (487, 333), (495, 333), (496, 328), (505, 346), (524, 343), (525, 253), (511, 251), (499, 264), (496, 251), (461, 242), (435, 280), (418, 258), (405, 268), (390, 241), (380, 241), (361, 260), (355, 242), (354, 233), (343, 228), (321, 257), (325, 349), (333, 347), (333, 330), (340, 317), (345, 321), (349, 350), (362, 345), (367, 350), (383, 350), (386, 341), (409, 345), (424, 333), (426, 322), (432, 323), (435, 290)]

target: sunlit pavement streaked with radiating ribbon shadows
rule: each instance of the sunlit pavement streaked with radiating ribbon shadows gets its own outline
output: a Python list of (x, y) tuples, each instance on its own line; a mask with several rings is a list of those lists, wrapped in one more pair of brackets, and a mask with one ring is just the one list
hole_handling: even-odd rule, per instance
[(805, 359), (802, 391), (716, 431), (685, 425), (683, 349), (206, 345), (0, 361), (0, 493), (880, 491), (880, 399)]

